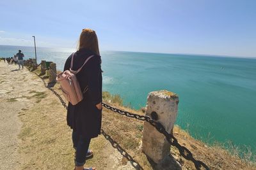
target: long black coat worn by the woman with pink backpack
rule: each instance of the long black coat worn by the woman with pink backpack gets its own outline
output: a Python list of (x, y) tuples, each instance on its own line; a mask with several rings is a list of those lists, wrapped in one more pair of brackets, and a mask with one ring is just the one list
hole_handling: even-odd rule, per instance
[[(100, 68), (100, 56), (90, 51), (81, 49), (74, 54), (72, 70), (79, 69), (84, 61), (94, 55), (76, 74), (81, 90), (88, 85), (84, 93), (84, 99), (72, 105), (68, 103), (67, 124), (71, 129), (88, 138), (95, 138), (100, 134), (102, 110), (98, 110), (96, 104), (102, 102), (102, 71)], [(70, 55), (65, 62), (64, 71), (70, 69)]]

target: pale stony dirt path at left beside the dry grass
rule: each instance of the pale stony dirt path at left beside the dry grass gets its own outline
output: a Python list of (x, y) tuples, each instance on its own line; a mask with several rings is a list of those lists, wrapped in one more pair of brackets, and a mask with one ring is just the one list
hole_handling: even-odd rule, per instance
[[(34, 79), (33, 82), (29, 80)], [(18, 134), (22, 123), (19, 112), (35, 104), (29, 100), (31, 90), (45, 91), (40, 80), (29, 73), (27, 69), (18, 66), (8, 66), (0, 62), (0, 169), (17, 169), (20, 165), (18, 153)]]

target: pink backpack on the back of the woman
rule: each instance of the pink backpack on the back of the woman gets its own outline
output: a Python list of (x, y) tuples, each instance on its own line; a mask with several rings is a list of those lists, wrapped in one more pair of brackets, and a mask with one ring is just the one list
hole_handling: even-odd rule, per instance
[[(88, 57), (88, 59), (84, 61), (83, 66), (92, 57), (93, 55)], [(77, 81), (76, 74), (79, 73), (79, 71), (81, 71), (83, 66), (80, 67), (77, 71), (72, 70), (73, 58), (74, 58), (74, 53), (72, 55), (70, 69), (58, 74), (58, 76), (56, 77), (56, 80), (60, 82), (60, 89), (62, 90), (63, 95), (65, 96), (67, 101), (69, 101), (72, 105), (76, 105), (77, 103), (83, 100), (83, 94), (88, 90), (88, 86), (85, 87), (82, 92), (79, 82)]]

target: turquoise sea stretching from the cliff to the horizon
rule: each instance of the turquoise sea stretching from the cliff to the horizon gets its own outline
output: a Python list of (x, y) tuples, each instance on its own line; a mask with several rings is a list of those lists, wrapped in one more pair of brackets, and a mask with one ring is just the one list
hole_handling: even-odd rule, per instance
[[(0, 57), (35, 48), (0, 45)], [(36, 48), (37, 60), (56, 62), (63, 70), (71, 48)], [(103, 90), (119, 94), (124, 104), (140, 109), (149, 92), (179, 95), (175, 124), (209, 144), (249, 147), (256, 153), (256, 59), (212, 55), (102, 51)], [(253, 130), (254, 129), (254, 130)]]

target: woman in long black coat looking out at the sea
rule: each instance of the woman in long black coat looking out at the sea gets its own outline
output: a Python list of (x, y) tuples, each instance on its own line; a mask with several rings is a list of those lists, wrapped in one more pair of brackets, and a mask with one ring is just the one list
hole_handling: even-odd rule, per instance
[[(95, 31), (83, 29), (77, 52), (74, 53), (72, 70), (79, 69), (91, 55), (93, 57), (76, 74), (81, 90), (84, 91), (88, 87), (88, 90), (84, 92), (84, 99), (74, 106), (68, 103), (67, 124), (73, 129), (72, 141), (76, 150), (76, 170), (94, 169), (83, 166), (86, 155), (92, 155), (92, 152), (86, 153), (86, 151), (89, 148), (90, 140), (100, 134), (102, 118), (102, 71), (98, 39)], [(70, 69), (71, 58), (72, 55), (68, 57), (64, 71)]]

